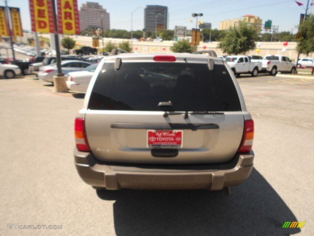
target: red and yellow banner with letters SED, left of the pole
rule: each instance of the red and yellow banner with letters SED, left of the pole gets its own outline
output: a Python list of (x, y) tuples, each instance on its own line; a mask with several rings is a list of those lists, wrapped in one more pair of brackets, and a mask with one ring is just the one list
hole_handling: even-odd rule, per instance
[(51, 0), (29, 0), (32, 31), (55, 33)]

